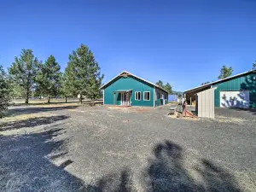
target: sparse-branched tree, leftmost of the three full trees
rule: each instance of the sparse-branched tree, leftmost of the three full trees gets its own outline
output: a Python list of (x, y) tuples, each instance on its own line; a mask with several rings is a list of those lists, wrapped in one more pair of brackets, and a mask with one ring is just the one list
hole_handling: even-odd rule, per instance
[(9, 67), (9, 74), (15, 80), (15, 84), (20, 85), (20, 89), (25, 92), (26, 101), (32, 94), (35, 84), (36, 67), (38, 59), (34, 57), (31, 49), (22, 49), (20, 58), (15, 57), (15, 62)]

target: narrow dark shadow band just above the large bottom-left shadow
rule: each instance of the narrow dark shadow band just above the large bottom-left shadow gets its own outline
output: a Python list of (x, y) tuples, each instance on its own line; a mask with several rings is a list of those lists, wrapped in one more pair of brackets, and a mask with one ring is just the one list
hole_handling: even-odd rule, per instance
[(52, 124), (56, 121), (60, 121), (63, 119), (68, 119), (68, 118), (69, 117), (66, 115), (58, 115), (58, 116), (38, 117), (38, 118), (29, 118), (29, 119), (23, 119), (23, 120), (17, 120), (17, 121), (3, 122), (0, 125), (0, 132), (21, 129), (24, 127), (48, 125), (48, 124)]

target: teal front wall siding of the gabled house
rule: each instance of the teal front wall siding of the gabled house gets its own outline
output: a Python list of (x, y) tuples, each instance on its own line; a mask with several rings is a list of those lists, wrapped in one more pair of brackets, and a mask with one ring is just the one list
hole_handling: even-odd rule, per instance
[[(120, 77), (115, 79), (104, 89), (104, 104), (113, 105), (114, 90), (132, 90), (131, 91), (131, 106), (148, 106), (154, 107), (154, 86), (147, 84), (140, 79), (134, 77)], [(135, 92), (141, 91), (141, 101), (135, 100)], [(150, 101), (143, 101), (143, 91), (150, 92)], [(120, 104), (120, 94), (116, 93), (115, 103)]]

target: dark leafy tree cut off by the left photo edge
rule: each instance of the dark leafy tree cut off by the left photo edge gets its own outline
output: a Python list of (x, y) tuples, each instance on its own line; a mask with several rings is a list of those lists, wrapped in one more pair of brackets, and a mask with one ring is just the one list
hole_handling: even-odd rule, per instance
[(4, 116), (4, 111), (8, 109), (10, 102), (9, 79), (4, 72), (3, 67), (0, 66), (0, 118)]

